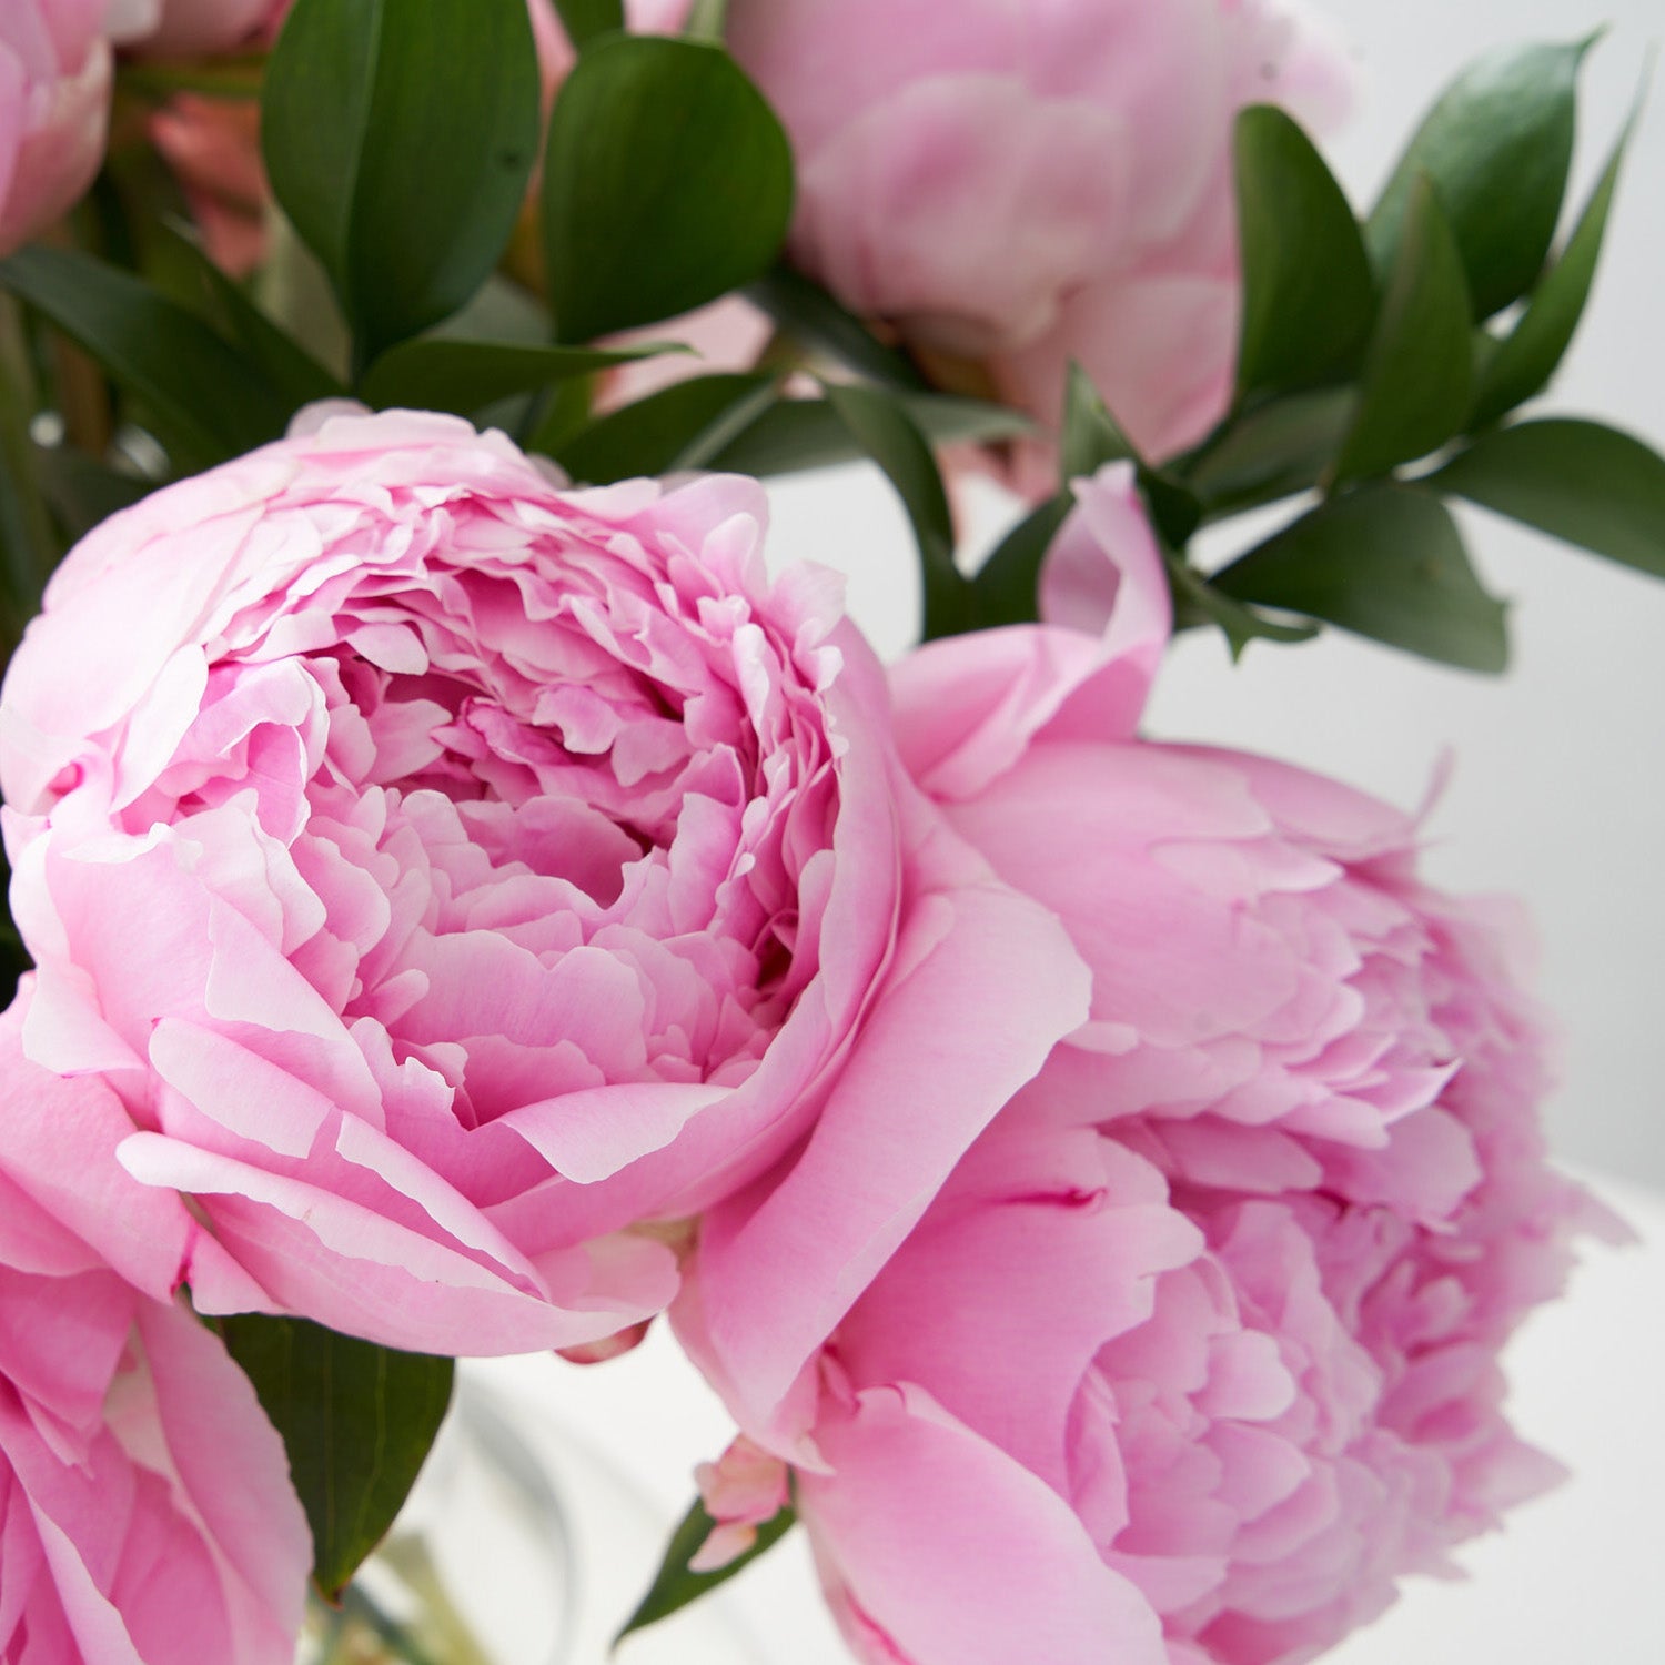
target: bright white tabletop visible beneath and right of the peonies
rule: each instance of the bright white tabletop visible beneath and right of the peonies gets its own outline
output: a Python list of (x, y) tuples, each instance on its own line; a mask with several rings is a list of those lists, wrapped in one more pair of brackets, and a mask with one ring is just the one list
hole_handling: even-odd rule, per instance
[[(1517, 1430), (1572, 1479), (1517, 1510), (1505, 1532), (1469, 1545), (1460, 1560), (1472, 1578), (1409, 1580), (1399, 1605), (1327, 1655), (1330, 1665), (1665, 1660), (1665, 1204), (1617, 1182), (1598, 1189), (1642, 1242), (1587, 1247), (1568, 1299), (1537, 1312), (1505, 1360)], [(646, 1588), (693, 1497), (693, 1465), (728, 1442), (723, 1407), (663, 1327), (594, 1369), (553, 1359), (463, 1369), (514, 1394), (533, 1420), (559, 1430), (564, 1450), (576, 1444), (599, 1459), (603, 1472), (576, 1498), (588, 1640), (571, 1665), (603, 1665), (606, 1635)], [(633, 1497), (639, 1507), (621, 1507)], [(618, 1665), (849, 1665), (801, 1532), (716, 1602), (721, 1613), (691, 1608), (628, 1642)]]

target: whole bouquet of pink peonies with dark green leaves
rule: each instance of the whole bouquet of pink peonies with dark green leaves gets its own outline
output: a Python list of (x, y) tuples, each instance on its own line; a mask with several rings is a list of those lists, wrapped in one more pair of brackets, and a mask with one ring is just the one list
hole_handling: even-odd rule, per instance
[[(1553, 1480), (1513, 909), (1141, 719), (1502, 671), (1457, 501), (1665, 576), (1535, 403), (1592, 45), (1360, 210), (1299, 0), (0, 17), (5, 1665), (471, 1665), (361, 1580), (455, 1362), (654, 1324), (734, 1440), (626, 1633), (798, 1532), (861, 1660), (1307, 1660)], [(854, 460), (887, 666), (759, 485)]]

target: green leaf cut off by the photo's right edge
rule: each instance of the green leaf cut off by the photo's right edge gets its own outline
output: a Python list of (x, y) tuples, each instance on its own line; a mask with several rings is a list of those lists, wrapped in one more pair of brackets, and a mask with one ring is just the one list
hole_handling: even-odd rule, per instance
[(1595, 554), (1665, 578), (1665, 458), (1593, 421), (1482, 435), (1430, 485)]

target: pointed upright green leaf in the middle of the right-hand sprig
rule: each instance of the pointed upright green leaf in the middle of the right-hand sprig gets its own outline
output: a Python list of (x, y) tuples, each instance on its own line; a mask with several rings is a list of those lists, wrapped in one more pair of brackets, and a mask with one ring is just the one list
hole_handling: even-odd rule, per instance
[(1359, 411), (1335, 463), (1337, 480), (1385, 475), (1437, 451), (1474, 396), (1469, 286), (1462, 256), (1427, 178), (1417, 180), (1382, 296)]

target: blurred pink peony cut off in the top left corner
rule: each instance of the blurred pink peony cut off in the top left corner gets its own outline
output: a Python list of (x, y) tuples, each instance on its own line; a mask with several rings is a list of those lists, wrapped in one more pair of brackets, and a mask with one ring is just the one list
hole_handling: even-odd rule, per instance
[(73, 206), (103, 160), (103, 5), (7, 0), (0, 8), (0, 255)]

